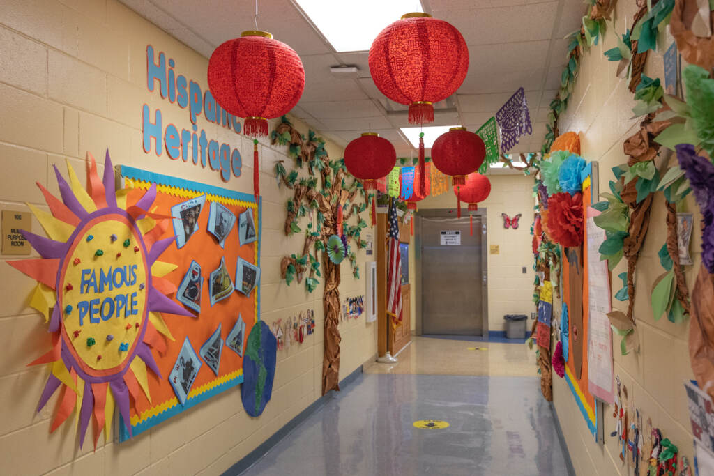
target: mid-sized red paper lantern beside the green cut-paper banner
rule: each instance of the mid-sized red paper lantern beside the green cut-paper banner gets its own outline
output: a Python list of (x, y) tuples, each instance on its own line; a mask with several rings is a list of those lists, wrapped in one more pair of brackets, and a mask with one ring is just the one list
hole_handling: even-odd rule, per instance
[(431, 161), (441, 172), (452, 176), (451, 183), (455, 186), (464, 185), (466, 176), (477, 171), (484, 158), (483, 140), (465, 127), (452, 127), (431, 146)]

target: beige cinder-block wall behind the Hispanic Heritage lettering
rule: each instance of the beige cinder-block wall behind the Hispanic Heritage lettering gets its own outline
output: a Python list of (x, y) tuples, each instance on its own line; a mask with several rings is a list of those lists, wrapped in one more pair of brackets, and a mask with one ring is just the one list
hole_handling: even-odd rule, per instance
[[(168, 123), (188, 127), (188, 112), (146, 88), (146, 45), (176, 59), (176, 71), (207, 88), (207, 59), (179, 43), (116, 0), (8, 0), (0, 9), (0, 208), (26, 211), (25, 202), (47, 210), (35, 181), (59, 196), (51, 171), (65, 173), (69, 162), (84, 178), (84, 156), (98, 159), (109, 147), (114, 164), (144, 168), (215, 186), (252, 193), (252, 143), (232, 131), (198, 120), (208, 138), (239, 148), (240, 178), (223, 183), (216, 171), (157, 157), (142, 148), (141, 107), (156, 108)], [(308, 126), (295, 125), (303, 132)], [(26, 363), (46, 351), (49, 338), (41, 317), (26, 305), (33, 281), (0, 264), (0, 467), (5, 474), (217, 474), (266, 440), (321, 395), (323, 355), (322, 287), (286, 286), (279, 277), (283, 253), (300, 253), (303, 235), (286, 237), (283, 223), (290, 195), (273, 177), (286, 148), (260, 145), (263, 193), (261, 318), (278, 318), (313, 308), (316, 333), (302, 345), (278, 352), (273, 397), (263, 415), (243, 412), (239, 388), (171, 418), (134, 440), (79, 450), (74, 425), (49, 434), (56, 398), (34, 412), (47, 378), (44, 368)], [(342, 149), (328, 142), (332, 158)], [(101, 166), (100, 171), (101, 173)], [(33, 231), (42, 233), (39, 223)], [(0, 256), (1, 260), (11, 258)], [(370, 257), (371, 258), (371, 257)], [(358, 255), (364, 269), (366, 255)], [(343, 296), (365, 294), (364, 278), (354, 280), (343, 266)], [(364, 273), (361, 273), (364, 275)], [(376, 324), (365, 318), (340, 324), (344, 378), (376, 355)]]

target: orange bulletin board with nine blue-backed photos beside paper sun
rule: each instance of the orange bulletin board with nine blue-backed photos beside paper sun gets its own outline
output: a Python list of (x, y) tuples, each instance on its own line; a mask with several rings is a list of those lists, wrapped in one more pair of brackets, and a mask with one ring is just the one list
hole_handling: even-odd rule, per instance
[[(154, 286), (173, 291), (169, 297), (194, 316), (163, 313), (171, 338), (155, 353), (161, 377), (147, 373), (148, 392), (132, 395), (136, 436), (243, 382), (246, 329), (260, 315), (261, 208), (252, 194), (126, 166), (119, 171), (128, 207), (156, 184), (151, 211), (171, 217), (158, 239), (173, 240), (161, 254), (170, 265), (154, 273), (161, 274)], [(124, 441), (129, 429), (119, 421)]]

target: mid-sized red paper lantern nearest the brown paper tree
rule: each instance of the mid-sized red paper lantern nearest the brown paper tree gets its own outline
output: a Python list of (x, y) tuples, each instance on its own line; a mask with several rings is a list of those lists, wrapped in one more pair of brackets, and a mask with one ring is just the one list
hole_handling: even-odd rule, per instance
[(387, 176), (396, 161), (392, 143), (376, 132), (362, 133), (345, 148), (345, 166), (363, 182), (365, 190), (376, 189), (378, 179)]

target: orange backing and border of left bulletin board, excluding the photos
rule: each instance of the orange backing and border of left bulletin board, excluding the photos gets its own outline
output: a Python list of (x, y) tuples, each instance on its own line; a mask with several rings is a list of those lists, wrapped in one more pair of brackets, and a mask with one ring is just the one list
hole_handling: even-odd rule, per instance
[[(171, 216), (172, 207), (199, 196), (205, 195), (206, 197), (201, 212), (198, 214), (197, 230), (188, 240), (185, 240), (185, 244), (182, 243), (181, 248), (178, 248), (178, 240), (174, 239), (174, 242), (161, 255), (162, 262), (176, 265), (175, 269), (167, 270), (168, 273), (163, 276), (163, 279), (166, 281), (164, 285), (176, 288), (169, 297), (177, 303), (181, 301), (176, 298), (176, 293), (180, 291), (181, 282), (191, 267), (191, 263), (196, 261), (201, 266), (200, 312), (184, 305), (187, 310), (196, 314), (196, 317), (162, 313), (174, 340), (166, 339), (166, 350), (156, 354), (156, 363), (161, 370), (161, 378), (154, 373), (148, 375), (151, 401), (144, 393), (138, 393), (134, 401), (135, 405), (131, 409), (131, 432), (135, 436), (183, 410), (243, 382), (243, 357), (228, 348), (226, 338), (240, 316), (245, 324), (241, 350), (245, 350), (247, 334), (260, 315), (259, 274), (256, 278), (256, 287), (247, 296), (238, 290), (233, 290), (227, 298), (218, 300), (213, 305), (211, 305), (209, 295), (210, 275), (221, 266), (221, 259), (223, 259), (233, 286), (240, 287), (241, 283), (236, 283), (236, 267), (239, 258), (260, 268), (261, 207), (252, 195), (246, 193), (206, 186), (158, 173), (141, 171), (137, 168), (122, 166), (120, 175), (124, 179), (124, 188), (127, 191), (127, 206), (134, 205), (151, 187), (152, 183), (156, 183), (157, 193), (156, 201), (154, 201), (156, 208), (152, 211), (159, 215)], [(224, 248), (221, 248), (218, 239), (208, 231), (209, 215), (213, 203), (220, 203), (236, 216), (236, 221), (224, 240)], [(241, 245), (238, 238), (239, 217), (248, 209), (252, 212), (257, 239), (252, 243)], [(174, 237), (172, 222), (175, 219), (165, 219), (164, 221), (166, 229), (161, 238)], [(188, 338), (193, 351), (196, 355), (200, 355), (201, 346), (216, 332), (218, 325), (221, 325), (221, 340), (223, 341), (218, 375), (199, 356), (201, 364), (198, 367), (198, 373), (193, 378), (191, 388), (182, 405), (169, 382), (169, 375), (174, 370), (181, 348)], [(127, 439), (129, 439), (129, 432), (126, 425), (119, 425), (119, 440)]]

